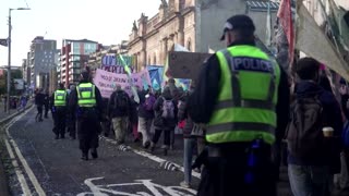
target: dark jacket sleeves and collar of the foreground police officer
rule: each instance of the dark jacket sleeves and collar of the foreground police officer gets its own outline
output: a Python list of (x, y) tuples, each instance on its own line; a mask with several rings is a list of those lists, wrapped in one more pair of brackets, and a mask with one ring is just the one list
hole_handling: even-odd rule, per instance
[[(254, 42), (234, 42), (232, 46), (251, 45)], [(215, 103), (219, 94), (220, 69), (216, 54), (213, 54), (203, 65), (200, 73), (198, 83), (194, 93), (190, 96), (188, 107), (189, 114), (195, 123), (207, 124), (214, 111)], [(285, 135), (285, 130), (289, 120), (290, 90), (288, 76), (280, 66), (281, 75), (278, 86), (278, 100), (276, 106), (277, 128), (276, 139), (280, 142)], [(258, 87), (258, 84), (255, 84)]]

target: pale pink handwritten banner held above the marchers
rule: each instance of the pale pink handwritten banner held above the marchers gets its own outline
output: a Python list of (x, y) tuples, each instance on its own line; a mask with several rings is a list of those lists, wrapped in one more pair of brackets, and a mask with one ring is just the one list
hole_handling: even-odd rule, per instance
[(144, 83), (147, 85), (152, 84), (149, 73), (146, 69), (139, 73), (131, 74), (130, 78), (127, 74), (116, 74), (97, 69), (94, 83), (99, 88), (101, 97), (105, 98), (109, 98), (111, 96), (117, 85), (120, 85), (121, 88), (131, 96), (131, 84), (140, 87), (144, 86)]

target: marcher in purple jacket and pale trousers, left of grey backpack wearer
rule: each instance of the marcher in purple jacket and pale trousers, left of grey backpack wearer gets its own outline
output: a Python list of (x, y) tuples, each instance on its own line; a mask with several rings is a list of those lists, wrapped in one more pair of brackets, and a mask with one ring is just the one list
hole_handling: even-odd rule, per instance
[(141, 106), (139, 109), (139, 132), (143, 136), (143, 147), (148, 148), (151, 145), (151, 128), (154, 119), (154, 103), (156, 98), (151, 89), (141, 94)]

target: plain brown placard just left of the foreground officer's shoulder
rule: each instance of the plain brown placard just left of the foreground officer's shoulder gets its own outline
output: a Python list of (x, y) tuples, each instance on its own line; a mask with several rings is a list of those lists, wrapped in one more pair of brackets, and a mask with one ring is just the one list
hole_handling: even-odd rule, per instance
[(169, 74), (174, 78), (196, 79), (203, 63), (212, 53), (169, 52)]

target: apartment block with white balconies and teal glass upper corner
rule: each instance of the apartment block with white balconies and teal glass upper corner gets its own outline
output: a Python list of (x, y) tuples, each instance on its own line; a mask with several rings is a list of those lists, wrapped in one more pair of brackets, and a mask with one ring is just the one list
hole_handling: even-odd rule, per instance
[(89, 54), (100, 49), (101, 45), (88, 39), (63, 39), (57, 66), (58, 83), (63, 83), (65, 87), (79, 83), (81, 70), (87, 65)]

